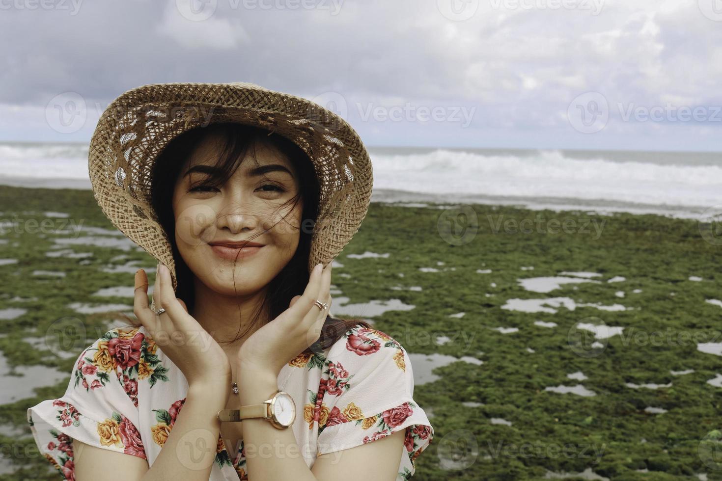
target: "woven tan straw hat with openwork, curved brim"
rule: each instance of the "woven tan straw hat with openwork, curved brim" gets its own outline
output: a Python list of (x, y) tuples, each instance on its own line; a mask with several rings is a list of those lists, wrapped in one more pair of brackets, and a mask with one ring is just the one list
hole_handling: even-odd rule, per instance
[(308, 154), (320, 188), (308, 270), (331, 262), (366, 216), (373, 185), (369, 155), (339, 115), (256, 84), (150, 84), (113, 100), (98, 120), (88, 153), (93, 195), (105, 216), (168, 266), (175, 291), (170, 242), (150, 203), (152, 165), (179, 134), (219, 122), (266, 128)]

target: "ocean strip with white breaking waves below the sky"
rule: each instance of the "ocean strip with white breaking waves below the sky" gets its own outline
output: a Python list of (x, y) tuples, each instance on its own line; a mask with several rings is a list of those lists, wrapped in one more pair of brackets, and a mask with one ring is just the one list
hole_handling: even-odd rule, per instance
[[(722, 154), (368, 147), (372, 202), (485, 203), (695, 218), (722, 208)], [(0, 143), (0, 184), (90, 189), (87, 143)], [(717, 206), (717, 207), (716, 207)]]

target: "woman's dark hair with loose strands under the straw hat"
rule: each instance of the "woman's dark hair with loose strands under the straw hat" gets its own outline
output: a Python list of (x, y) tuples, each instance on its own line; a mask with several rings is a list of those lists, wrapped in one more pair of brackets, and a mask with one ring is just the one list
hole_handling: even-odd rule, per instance
[[(221, 139), (219, 155), (215, 164), (215, 167), (219, 170), (217, 174), (207, 177), (204, 180), (204, 185), (220, 187), (225, 184), (235, 172), (235, 169), (243, 162), (249, 150), (253, 151), (253, 159), (256, 159), (256, 142), (266, 140), (287, 156), (299, 175), (299, 192), (294, 198), (284, 203), (282, 207), (291, 204), (296, 206), (299, 201), (303, 200), (302, 225), (304, 225), (303, 221), (307, 219), (313, 221), (310, 225), (315, 225), (318, 216), (319, 189), (313, 163), (308, 158), (308, 155), (289, 139), (254, 125), (232, 122), (214, 123), (206, 127), (199, 126), (173, 138), (162, 150), (153, 166), (151, 202), (173, 249), (175, 273), (178, 281), (175, 296), (183, 299), (188, 307), (188, 312), (193, 310), (195, 304), (195, 288), (193, 286), (193, 273), (186, 265), (186, 262), (183, 261), (175, 242), (173, 190), (183, 164), (190, 158), (196, 147), (201, 144), (201, 141), (210, 135), (217, 135)], [(269, 283), (264, 301), (254, 312), (253, 321), (248, 330), (235, 337), (235, 339), (219, 341), (219, 343), (230, 344), (242, 338), (251, 330), (251, 327), (256, 325), (262, 312), (268, 314), (270, 322), (288, 309), (294, 296), (303, 294), (310, 277), (308, 273), (308, 257), (310, 255), (311, 234), (312, 232), (308, 229), (300, 229), (300, 239), (295, 254), (281, 272)], [(123, 316), (123, 318), (130, 322), (133, 327), (142, 326), (136, 319), (126, 316)], [(321, 328), (321, 336), (304, 353), (323, 352), (323, 350), (333, 345), (336, 340), (339, 340), (351, 327), (359, 324), (367, 328), (371, 327), (361, 319), (339, 319), (331, 317), (331, 315), (327, 316)], [(240, 331), (240, 319), (238, 330)]]

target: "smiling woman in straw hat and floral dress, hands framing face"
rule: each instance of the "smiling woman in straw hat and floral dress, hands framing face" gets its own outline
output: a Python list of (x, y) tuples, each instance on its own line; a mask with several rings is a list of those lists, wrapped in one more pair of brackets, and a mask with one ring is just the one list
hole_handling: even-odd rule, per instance
[(159, 268), (151, 305), (136, 273), (138, 321), (28, 409), (64, 480), (413, 475), (433, 429), (406, 351), (329, 314), (372, 183), (344, 120), (253, 84), (139, 87), (100, 119), (90, 175)]

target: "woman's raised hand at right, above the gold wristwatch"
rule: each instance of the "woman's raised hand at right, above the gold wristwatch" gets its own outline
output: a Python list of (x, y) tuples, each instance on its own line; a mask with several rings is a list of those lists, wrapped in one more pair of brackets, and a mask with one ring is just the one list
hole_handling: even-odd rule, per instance
[[(238, 351), (238, 380), (256, 376), (276, 379), (282, 367), (321, 337), (321, 327), (331, 308), (331, 264), (317, 265), (311, 272), (303, 296), (291, 299), (290, 306), (243, 342)], [(328, 307), (321, 309), (318, 299)], [(240, 384), (240, 383), (239, 383)]]

